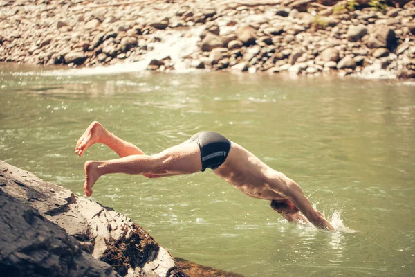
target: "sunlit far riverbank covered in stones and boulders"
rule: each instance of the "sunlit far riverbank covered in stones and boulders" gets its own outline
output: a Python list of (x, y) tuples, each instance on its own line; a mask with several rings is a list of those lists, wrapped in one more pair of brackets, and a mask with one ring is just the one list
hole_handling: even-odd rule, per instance
[[(0, 61), (415, 78), (415, 1), (5, 0)], [(181, 44), (180, 44), (181, 42)]]

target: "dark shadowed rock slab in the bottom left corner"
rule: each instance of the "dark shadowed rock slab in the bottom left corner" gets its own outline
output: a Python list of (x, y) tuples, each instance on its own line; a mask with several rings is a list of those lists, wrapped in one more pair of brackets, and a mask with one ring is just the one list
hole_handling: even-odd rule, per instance
[[(0, 181), (6, 185), (4, 179)], [(110, 265), (82, 251), (80, 242), (24, 202), (0, 188), (2, 276), (118, 276)]]

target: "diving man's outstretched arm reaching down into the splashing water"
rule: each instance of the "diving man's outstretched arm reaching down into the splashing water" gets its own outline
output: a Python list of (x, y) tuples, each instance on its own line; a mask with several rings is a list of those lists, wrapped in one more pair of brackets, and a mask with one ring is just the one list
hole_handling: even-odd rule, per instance
[[(271, 190), (274, 190), (279, 195), (282, 195), (289, 201), (293, 202), (299, 211), (301, 211), (312, 224), (322, 229), (335, 230), (334, 227), (331, 226), (330, 222), (327, 221), (319, 211), (316, 211), (315, 208), (311, 206), (307, 197), (295, 181), (280, 173), (277, 177), (272, 178), (272, 181), (268, 185)], [(289, 215), (287, 215), (287, 217), (288, 216)], [(284, 216), (284, 218), (288, 221), (297, 221), (293, 217), (287, 217)]]

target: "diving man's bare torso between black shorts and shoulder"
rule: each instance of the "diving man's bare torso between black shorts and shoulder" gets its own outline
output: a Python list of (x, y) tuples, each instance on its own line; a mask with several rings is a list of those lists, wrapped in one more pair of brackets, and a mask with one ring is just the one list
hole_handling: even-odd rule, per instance
[(213, 171), (250, 197), (267, 200), (284, 199), (268, 186), (273, 181), (273, 177), (280, 173), (233, 141), (225, 162)]

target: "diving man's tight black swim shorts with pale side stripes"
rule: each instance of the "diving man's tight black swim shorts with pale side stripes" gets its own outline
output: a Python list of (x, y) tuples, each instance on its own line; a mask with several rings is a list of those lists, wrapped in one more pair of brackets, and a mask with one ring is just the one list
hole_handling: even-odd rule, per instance
[(194, 134), (190, 142), (196, 141), (201, 150), (202, 170), (219, 168), (228, 157), (232, 143), (225, 136), (215, 132), (199, 132)]

